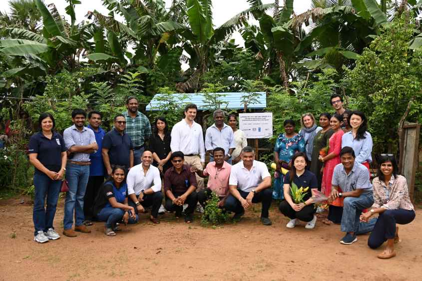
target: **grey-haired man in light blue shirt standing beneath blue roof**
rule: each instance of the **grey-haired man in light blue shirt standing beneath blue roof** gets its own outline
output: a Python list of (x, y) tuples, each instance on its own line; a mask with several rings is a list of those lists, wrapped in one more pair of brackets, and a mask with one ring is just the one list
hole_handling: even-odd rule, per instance
[(205, 149), (210, 154), (210, 162), (214, 161), (213, 150), (217, 147), (224, 149), (224, 160), (232, 163), (232, 152), (236, 148), (233, 129), (224, 123), (224, 111), (214, 111), (214, 124), (207, 129), (205, 134)]

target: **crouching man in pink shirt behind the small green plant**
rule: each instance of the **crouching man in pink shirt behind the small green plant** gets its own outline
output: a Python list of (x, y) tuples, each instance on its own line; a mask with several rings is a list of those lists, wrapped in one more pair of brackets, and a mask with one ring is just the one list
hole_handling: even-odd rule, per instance
[(224, 148), (216, 147), (214, 149), (214, 161), (208, 163), (203, 171), (191, 167), (201, 178), (208, 176), (207, 188), (198, 192), (198, 201), (205, 208), (205, 203), (211, 198), (211, 192), (217, 194), (220, 198), (218, 207), (224, 206), (224, 201), (229, 194), (229, 178), (232, 166), (224, 161)]

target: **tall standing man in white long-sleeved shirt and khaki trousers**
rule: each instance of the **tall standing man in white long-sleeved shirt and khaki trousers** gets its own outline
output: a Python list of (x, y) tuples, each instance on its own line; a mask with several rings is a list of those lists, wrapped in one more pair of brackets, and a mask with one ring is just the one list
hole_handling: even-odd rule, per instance
[[(181, 151), (185, 164), (203, 170), (205, 166), (205, 144), (202, 127), (194, 121), (198, 107), (188, 104), (185, 107), (185, 118), (176, 123), (171, 130), (171, 151)], [(204, 188), (204, 179), (196, 176), (198, 190)]]

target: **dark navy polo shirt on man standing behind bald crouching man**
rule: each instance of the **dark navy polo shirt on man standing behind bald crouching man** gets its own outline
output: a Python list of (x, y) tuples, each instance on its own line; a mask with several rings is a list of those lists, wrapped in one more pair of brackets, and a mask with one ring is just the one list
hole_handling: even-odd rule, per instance
[(129, 167), (130, 150), (133, 150), (133, 144), (128, 134), (121, 135), (113, 129), (105, 134), (102, 147), (108, 149), (111, 165)]

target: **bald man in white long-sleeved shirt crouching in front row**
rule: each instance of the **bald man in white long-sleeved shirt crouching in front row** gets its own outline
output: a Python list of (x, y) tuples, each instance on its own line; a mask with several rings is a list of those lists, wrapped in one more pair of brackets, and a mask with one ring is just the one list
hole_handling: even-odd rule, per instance
[(127, 174), (128, 203), (136, 213), (143, 212), (144, 208), (152, 206), (149, 220), (154, 224), (159, 224), (158, 210), (163, 200), (160, 171), (151, 165), (151, 151), (144, 151), (141, 159), (141, 164), (130, 168)]

